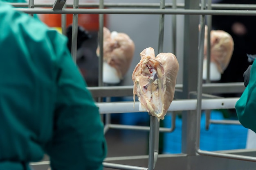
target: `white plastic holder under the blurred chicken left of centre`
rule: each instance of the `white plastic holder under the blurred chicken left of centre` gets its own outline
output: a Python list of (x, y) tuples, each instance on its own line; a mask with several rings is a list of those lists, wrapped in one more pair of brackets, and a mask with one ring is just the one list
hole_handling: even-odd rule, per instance
[(117, 70), (113, 67), (111, 67), (110, 65), (108, 65), (108, 63), (103, 62), (103, 74), (102, 74), (102, 78), (103, 78), (103, 83), (108, 83), (108, 84), (118, 84), (121, 82), (118, 74), (117, 74)]

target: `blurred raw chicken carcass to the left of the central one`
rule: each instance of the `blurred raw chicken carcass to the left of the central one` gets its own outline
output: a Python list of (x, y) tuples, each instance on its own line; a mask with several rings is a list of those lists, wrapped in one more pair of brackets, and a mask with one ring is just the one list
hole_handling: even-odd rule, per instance
[[(127, 34), (110, 32), (108, 28), (103, 27), (103, 76), (104, 72), (111, 70), (114, 75), (110, 76), (123, 79), (130, 67), (134, 50), (134, 42)], [(99, 56), (99, 46), (96, 53)]]

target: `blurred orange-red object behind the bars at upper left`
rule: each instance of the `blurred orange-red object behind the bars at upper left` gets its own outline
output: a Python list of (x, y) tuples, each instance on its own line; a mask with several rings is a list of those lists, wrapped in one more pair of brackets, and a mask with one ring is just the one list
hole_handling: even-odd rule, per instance
[[(40, 14), (40, 20), (49, 27), (61, 27), (61, 14)], [(66, 26), (72, 24), (73, 14), (66, 15)], [(104, 26), (106, 25), (106, 15), (104, 15)], [(78, 14), (78, 25), (88, 31), (99, 30), (99, 14)]]

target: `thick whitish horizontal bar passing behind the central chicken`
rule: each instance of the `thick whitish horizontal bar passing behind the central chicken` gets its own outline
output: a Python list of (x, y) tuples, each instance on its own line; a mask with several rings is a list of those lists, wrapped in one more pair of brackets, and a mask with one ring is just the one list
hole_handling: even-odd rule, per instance
[[(233, 109), (239, 98), (202, 99), (202, 110)], [(139, 102), (101, 102), (96, 103), (101, 114), (135, 113), (139, 111)], [(168, 111), (196, 110), (197, 99), (173, 100)]]

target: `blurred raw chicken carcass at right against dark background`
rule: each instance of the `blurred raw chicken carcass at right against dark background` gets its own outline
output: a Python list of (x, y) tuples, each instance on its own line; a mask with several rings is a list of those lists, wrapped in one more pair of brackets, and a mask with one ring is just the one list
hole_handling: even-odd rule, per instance
[[(206, 67), (207, 61), (207, 30), (205, 26), (204, 35), (204, 67)], [(231, 35), (222, 30), (211, 30), (211, 63), (216, 65), (216, 69), (219, 74), (222, 74), (227, 66), (233, 54), (234, 41)], [(206, 69), (206, 68), (205, 68)]]

